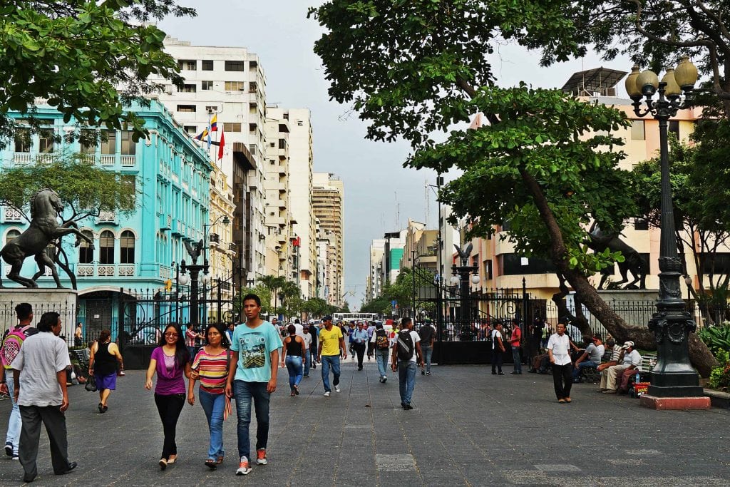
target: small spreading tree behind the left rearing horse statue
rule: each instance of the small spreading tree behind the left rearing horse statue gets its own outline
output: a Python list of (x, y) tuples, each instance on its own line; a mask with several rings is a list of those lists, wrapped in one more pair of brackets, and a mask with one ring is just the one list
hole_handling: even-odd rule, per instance
[[(42, 188), (52, 188), (64, 202), (62, 223), (74, 226), (102, 211), (131, 212), (137, 201), (137, 183), (130, 184), (119, 172), (101, 169), (91, 156), (59, 153), (51, 161), (14, 166), (0, 172), (0, 205), (20, 212), (30, 222), (28, 202)], [(76, 276), (69, 266), (66, 250), (58, 242), (55, 263), (64, 269), (77, 288)]]

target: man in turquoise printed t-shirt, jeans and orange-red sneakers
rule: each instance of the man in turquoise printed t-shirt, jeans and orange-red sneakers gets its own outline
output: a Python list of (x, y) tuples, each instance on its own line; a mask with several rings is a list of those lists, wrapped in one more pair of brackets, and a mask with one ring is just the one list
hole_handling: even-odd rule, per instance
[(243, 296), (246, 323), (237, 326), (231, 342), (226, 395), (236, 398), (238, 416), (238, 456), (236, 475), (247, 475), (250, 466), (251, 400), (256, 410), (256, 464), (266, 465), (269, 440), (269, 399), (276, 391), (279, 350), (283, 348), (279, 330), (260, 318), (261, 299), (255, 294)]

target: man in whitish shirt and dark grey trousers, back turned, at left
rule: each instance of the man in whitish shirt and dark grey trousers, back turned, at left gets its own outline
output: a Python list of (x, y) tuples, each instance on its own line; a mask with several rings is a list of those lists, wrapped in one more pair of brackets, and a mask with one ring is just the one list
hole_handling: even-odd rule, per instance
[(18, 356), (12, 361), (15, 380), (15, 402), (20, 406), (23, 426), (20, 430), (20, 464), (23, 482), (32, 482), (38, 475), (36, 459), (41, 423), (50, 442), (50, 459), (55, 475), (64, 475), (76, 468), (69, 462), (66, 437), (66, 415), (69, 394), (66, 392), (66, 367), (71, 366), (66, 342), (61, 334), (61, 318), (57, 312), (45, 312), (38, 322), (39, 333), (26, 338)]

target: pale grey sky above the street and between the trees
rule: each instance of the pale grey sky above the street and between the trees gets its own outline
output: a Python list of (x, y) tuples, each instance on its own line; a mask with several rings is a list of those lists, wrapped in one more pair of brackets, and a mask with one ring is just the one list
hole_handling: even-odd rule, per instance
[[(427, 185), (433, 171), (404, 169), (406, 142), (371, 142), (366, 125), (348, 107), (329, 101), (320, 58), (312, 52), (323, 30), (307, 19), (316, 0), (180, 0), (197, 9), (196, 18), (168, 18), (159, 27), (193, 45), (247, 47), (258, 54), (266, 75), (266, 103), (312, 112), (314, 170), (345, 183), (345, 291), (350, 307), (364, 296), (372, 239), (407, 226), (408, 219), (436, 228), (437, 202)], [(515, 45), (500, 46), (490, 60), (503, 86), (520, 80), (535, 88), (560, 88), (574, 72), (604, 66), (631, 71), (629, 61), (607, 63), (591, 54), (550, 68), (539, 55)], [(526, 74), (530, 74), (526, 78)], [(623, 90), (623, 83), (620, 83)]]

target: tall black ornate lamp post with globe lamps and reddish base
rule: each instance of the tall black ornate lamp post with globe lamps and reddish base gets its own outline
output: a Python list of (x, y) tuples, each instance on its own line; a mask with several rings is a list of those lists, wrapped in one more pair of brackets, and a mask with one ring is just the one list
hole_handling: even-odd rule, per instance
[[(697, 326), (685, 309), (680, 289), (682, 264), (677, 253), (667, 142), (667, 121), (677, 115), (677, 110), (691, 106), (691, 94), (696, 81), (697, 69), (686, 57), (682, 58), (677, 69), (668, 69), (661, 81), (653, 72), (639, 73), (637, 66), (634, 66), (626, 78), (626, 92), (634, 100), (634, 113), (638, 117), (652, 115), (659, 122), (661, 161), (659, 296), (656, 313), (649, 321), (649, 329), (654, 332), (656, 339), (657, 363), (651, 372), (648, 396), (642, 396), (642, 405), (657, 409), (704, 409), (704, 401), (700, 399), (707, 399), (709, 407), (709, 398), (704, 398), (702, 387), (699, 386), (699, 376), (689, 360), (688, 336), (696, 331)], [(654, 99), (656, 93), (658, 99)], [(645, 98), (646, 102), (646, 110), (643, 111), (642, 98)], [(667, 401), (668, 398), (672, 399)], [(677, 398), (684, 399), (677, 400)]]

